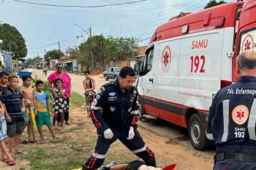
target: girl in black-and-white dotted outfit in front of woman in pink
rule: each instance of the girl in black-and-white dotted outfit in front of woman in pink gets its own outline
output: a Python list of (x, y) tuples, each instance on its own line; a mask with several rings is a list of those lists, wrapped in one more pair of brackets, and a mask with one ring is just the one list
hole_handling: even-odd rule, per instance
[(55, 125), (56, 118), (58, 114), (61, 116), (61, 130), (63, 129), (64, 123), (64, 112), (67, 112), (67, 100), (65, 97), (66, 90), (62, 88), (63, 81), (57, 78), (54, 81), (54, 85), (56, 88), (53, 88), (53, 97), (54, 97), (54, 116), (53, 116), (53, 126)]

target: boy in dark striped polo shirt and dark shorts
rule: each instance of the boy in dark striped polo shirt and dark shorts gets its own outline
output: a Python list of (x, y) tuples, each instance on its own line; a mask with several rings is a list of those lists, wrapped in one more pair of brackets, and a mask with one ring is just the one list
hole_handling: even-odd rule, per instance
[[(24, 101), (18, 90), (19, 79), (17, 76), (8, 77), (9, 86), (4, 90), (1, 101), (4, 106), (4, 116), (7, 122), (7, 136), (9, 137), (9, 152), (23, 153), (20, 151), (20, 134), (24, 125)], [(14, 152), (12, 150), (14, 148)]]

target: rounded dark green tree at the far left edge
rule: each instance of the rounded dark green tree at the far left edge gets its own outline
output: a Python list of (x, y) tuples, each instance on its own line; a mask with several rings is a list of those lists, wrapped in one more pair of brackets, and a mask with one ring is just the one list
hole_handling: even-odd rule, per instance
[(4, 23), (0, 26), (0, 39), (3, 40), (2, 50), (10, 51), (16, 58), (25, 58), (28, 50), (25, 39), (14, 26)]

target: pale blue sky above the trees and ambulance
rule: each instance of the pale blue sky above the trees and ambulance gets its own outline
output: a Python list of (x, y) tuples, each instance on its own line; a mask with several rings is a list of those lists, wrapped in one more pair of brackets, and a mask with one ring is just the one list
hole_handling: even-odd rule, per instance
[[(0, 0), (0, 4), (1, 4)], [(23, 0), (44, 4), (94, 6), (133, 0)], [(135, 0), (134, 0), (135, 1)], [(232, 1), (232, 0), (227, 0)], [(148, 45), (154, 29), (179, 12), (197, 12), (208, 0), (147, 0), (135, 4), (100, 8), (42, 7), (4, 0), (0, 5), (0, 20), (18, 28), (26, 41), (28, 58), (45, 50), (76, 47), (88, 38), (82, 31), (91, 27), (93, 35), (136, 36)], [(83, 36), (82, 36), (83, 35)], [(78, 38), (77, 36), (82, 36)]]

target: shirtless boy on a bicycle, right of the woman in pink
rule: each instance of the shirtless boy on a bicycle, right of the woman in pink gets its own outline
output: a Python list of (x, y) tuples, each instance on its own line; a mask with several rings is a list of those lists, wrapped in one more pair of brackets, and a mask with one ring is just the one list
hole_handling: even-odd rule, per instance
[(86, 77), (85, 80), (83, 80), (83, 89), (85, 90), (84, 95), (86, 96), (86, 104), (87, 107), (90, 106), (91, 96), (95, 94), (95, 81), (93, 78), (90, 77), (90, 71), (86, 70), (83, 72), (84, 76)]

